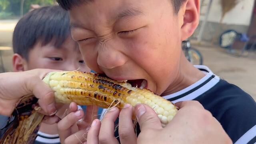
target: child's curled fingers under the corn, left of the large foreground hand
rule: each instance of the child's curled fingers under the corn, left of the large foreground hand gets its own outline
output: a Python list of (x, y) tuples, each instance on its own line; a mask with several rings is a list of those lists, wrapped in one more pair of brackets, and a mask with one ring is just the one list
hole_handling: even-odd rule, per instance
[[(79, 144), (87, 138), (88, 127), (97, 118), (98, 107), (87, 106), (86, 115), (72, 102), (68, 115), (58, 122), (58, 133), (62, 144)], [(82, 120), (81, 120), (82, 119)]]

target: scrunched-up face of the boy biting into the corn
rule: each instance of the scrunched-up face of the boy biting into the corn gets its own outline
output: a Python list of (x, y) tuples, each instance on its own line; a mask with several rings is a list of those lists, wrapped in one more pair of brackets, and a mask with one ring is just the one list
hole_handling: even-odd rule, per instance
[(169, 0), (94, 0), (70, 11), (88, 66), (162, 94), (179, 73), (182, 20)]

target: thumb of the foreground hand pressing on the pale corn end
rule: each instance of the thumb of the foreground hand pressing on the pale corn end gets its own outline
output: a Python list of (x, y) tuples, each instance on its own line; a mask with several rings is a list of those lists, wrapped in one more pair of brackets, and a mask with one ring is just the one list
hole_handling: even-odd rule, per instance
[(140, 130), (147, 129), (159, 129), (162, 128), (160, 119), (158, 118), (156, 112), (146, 104), (138, 104), (134, 108), (134, 112), (138, 123), (140, 125)]

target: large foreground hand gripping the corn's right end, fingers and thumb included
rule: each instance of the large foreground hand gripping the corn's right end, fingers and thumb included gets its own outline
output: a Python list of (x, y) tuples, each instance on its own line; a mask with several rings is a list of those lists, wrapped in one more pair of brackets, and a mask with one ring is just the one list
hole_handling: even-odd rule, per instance
[[(164, 128), (152, 108), (138, 105), (134, 108), (141, 133), (138, 138), (132, 124), (131, 106), (121, 110), (119, 115), (119, 136), (121, 144), (231, 144), (232, 141), (220, 123), (195, 101), (177, 104), (180, 110)], [(119, 144), (114, 136), (114, 121), (119, 114), (112, 109), (102, 122), (94, 120), (87, 144)]]

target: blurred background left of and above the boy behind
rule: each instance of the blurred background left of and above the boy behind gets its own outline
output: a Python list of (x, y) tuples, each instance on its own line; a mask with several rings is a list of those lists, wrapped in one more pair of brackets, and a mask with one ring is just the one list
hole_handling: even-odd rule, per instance
[(0, 0), (0, 72), (12, 71), (12, 33), (18, 20), (34, 8), (54, 4), (55, 0)]

